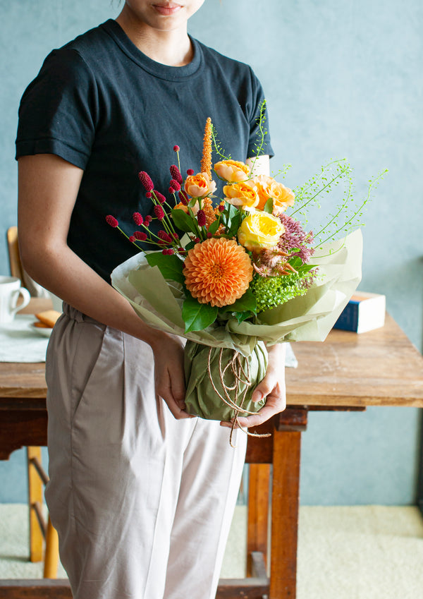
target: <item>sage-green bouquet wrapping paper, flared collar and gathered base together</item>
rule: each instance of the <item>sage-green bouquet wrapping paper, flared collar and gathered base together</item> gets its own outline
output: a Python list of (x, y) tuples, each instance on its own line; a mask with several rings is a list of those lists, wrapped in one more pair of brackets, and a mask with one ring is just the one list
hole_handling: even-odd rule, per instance
[[(188, 409), (201, 412), (202, 418), (208, 413), (212, 415), (208, 418), (226, 420), (228, 406), (208, 381), (209, 349), (223, 349), (227, 361), (233, 358), (234, 352), (245, 358), (255, 354), (250, 370), (255, 373), (257, 368), (257, 377), (247, 394), (251, 397), (259, 377), (265, 373), (265, 362), (261, 363), (256, 349), (259, 341), (264, 341), (266, 346), (283, 341), (324, 341), (360, 283), (361, 262), (362, 234), (357, 230), (339, 241), (325, 243), (314, 254), (312, 264), (319, 268), (319, 274), (305, 296), (260, 313), (255, 322), (238, 323), (235, 317), (229, 316), (223, 324), (215, 323), (202, 331), (188, 333), (185, 333), (182, 317), (182, 287), (166, 281), (158, 267), (150, 267), (145, 253), (134, 255), (116, 267), (111, 273), (111, 283), (147, 325), (192, 342), (185, 349)], [(219, 351), (214, 353), (212, 360), (213, 381), (219, 381), (216, 356)], [(231, 384), (226, 386), (231, 387)], [(218, 386), (216, 388), (219, 390)], [(246, 401), (249, 401), (247, 397)], [(195, 406), (192, 398), (195, 398)], [(209, 403), (210, 407), (204, 408)], [(252, 402), (245, 405), (250, 406), (251, 411), (259, 409)]]

